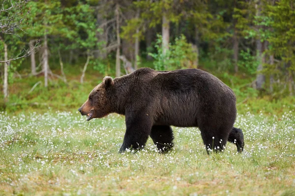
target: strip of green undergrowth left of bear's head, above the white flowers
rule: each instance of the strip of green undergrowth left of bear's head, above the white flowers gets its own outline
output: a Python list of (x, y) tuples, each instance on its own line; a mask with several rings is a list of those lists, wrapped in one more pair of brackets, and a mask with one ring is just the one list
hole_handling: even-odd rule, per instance
[[(79, 75), (80, 76), (80, 75)], [(97, 76), (91, 76), (90, 82), (86, 81), (81, 85), (78, 80), (71, 80), (68, 84), (62, 81), (52, 81), (48, 88), (44, 88), (43, 83), (37, 85), (29, 93), (31, 88), (43, 78), (15, 79), (12, 92), (10, 92), (9, 102), (6, 111), (13, 112), (28, 109), (48, 109), (49, 107), (68, 110), (76, 108), (82, 104), (89, 95), (89, 92), (101, 82)]]

